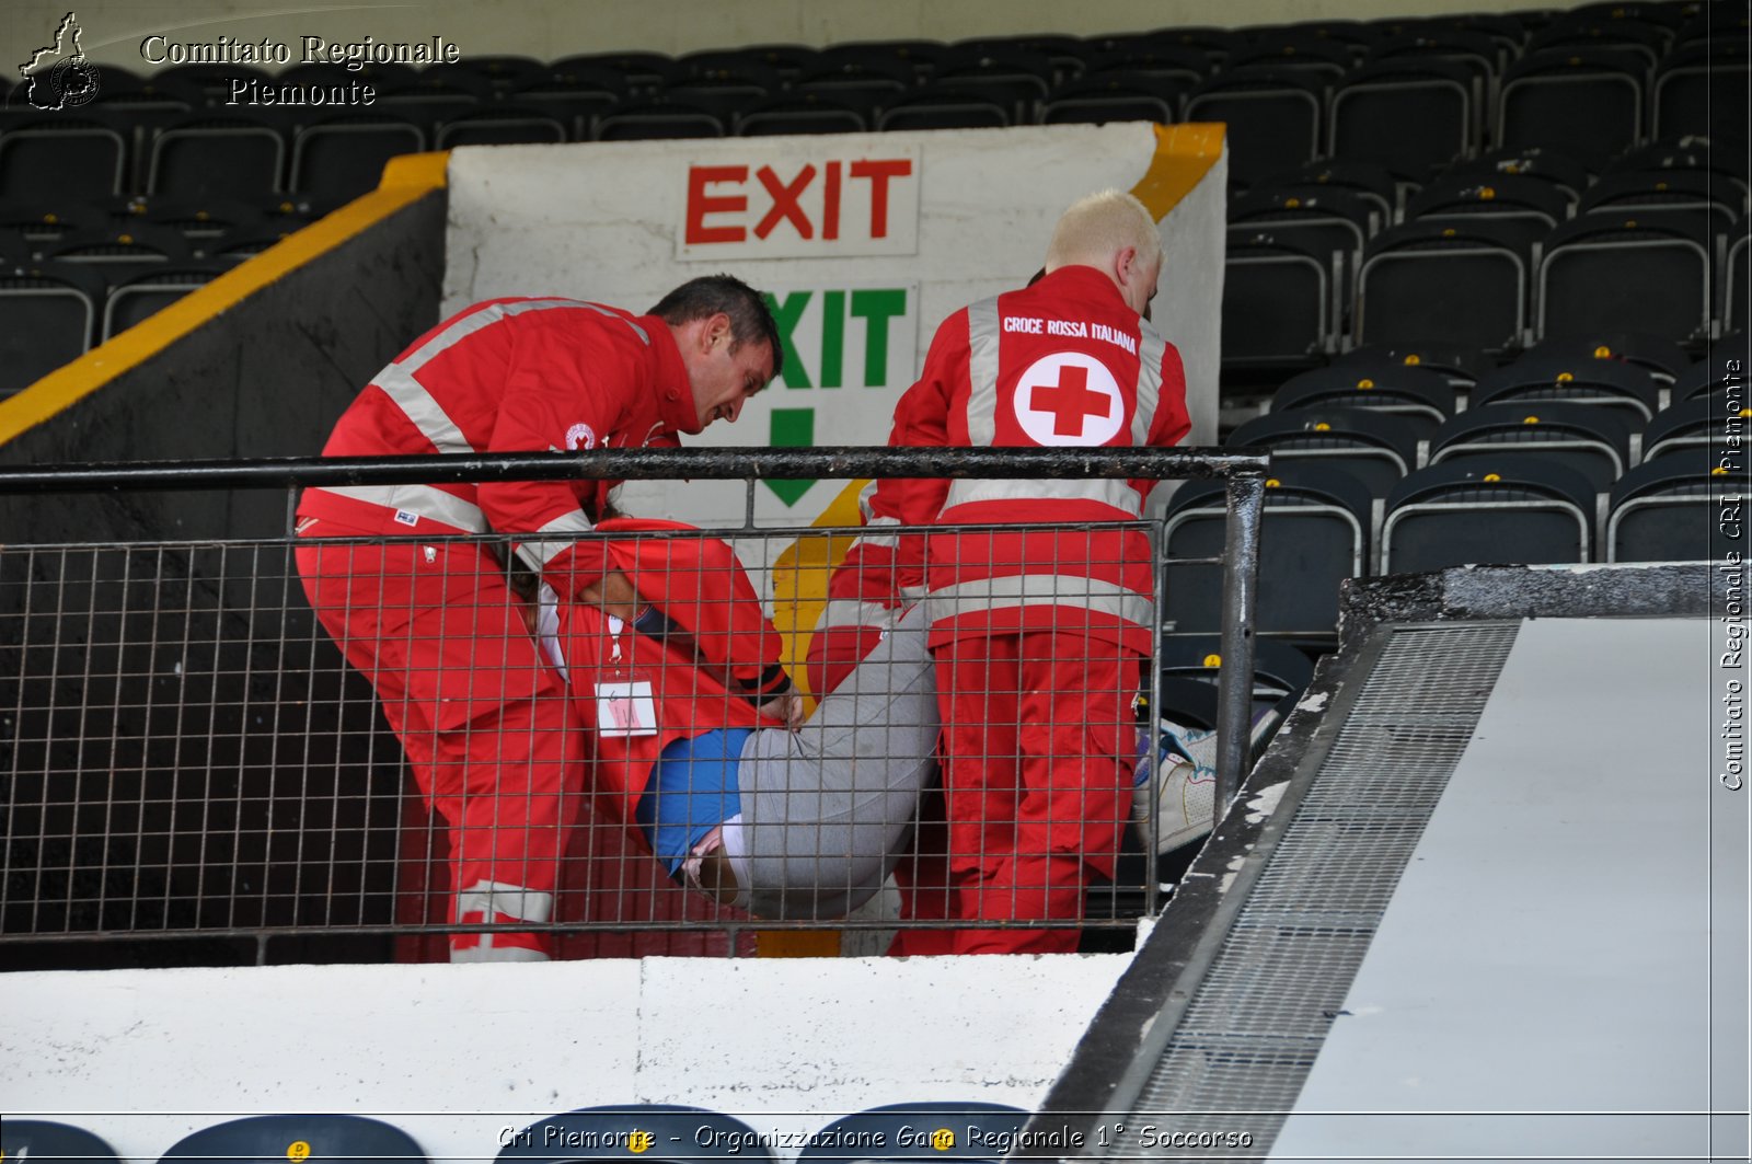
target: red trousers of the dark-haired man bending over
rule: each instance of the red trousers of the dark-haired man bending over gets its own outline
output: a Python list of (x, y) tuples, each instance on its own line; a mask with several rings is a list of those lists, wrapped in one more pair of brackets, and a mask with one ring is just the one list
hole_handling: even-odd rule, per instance
[[(350, 536), (319, 521), (307, 536)], [(547, 922), (585, 778), (566, 685), (536, 654), (505, 571), (463, 542), (303, 543), (305, 594), (384, 706), (450, 831), (459, 924)], [(456, 934), (454, 959), (540, 957), (526, 933)]]

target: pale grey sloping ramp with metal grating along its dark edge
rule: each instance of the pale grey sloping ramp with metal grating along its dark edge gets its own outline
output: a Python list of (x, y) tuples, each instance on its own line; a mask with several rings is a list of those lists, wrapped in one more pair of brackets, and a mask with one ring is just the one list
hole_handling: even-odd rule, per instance
[(1351, 598), (1035, 1125), (1084, 1120), (1084, 1159), (1745, 1159), (1734, 570)]

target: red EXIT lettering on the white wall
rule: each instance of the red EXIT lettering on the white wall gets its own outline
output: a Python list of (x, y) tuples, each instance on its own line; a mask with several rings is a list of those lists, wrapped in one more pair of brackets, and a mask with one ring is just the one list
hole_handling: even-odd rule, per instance
[[(771, 200), (766, 214), (753, 226), (755, 238), (767, 238), (780, 224), (788, 223), (799, 238), (815, 238), (816, 223), (809, 219), (802, 196), (822, 179), (820, 231), (823, 242), (839, 238), (841, 200), (848, 181), (869, 182), (869, 237), (888, 237), (888, 191), (895, 179), (913, 174), (911, 158), (858, 160), (851, 163), (827, 161), (822, 170), (804, 165), (790, 177), (773, 167), (753, 172), (755, 182)], [(687, 245), (713, 242), (746, 242), (748, 226), (748, 167), (689, 167)], [(850, 226), (850, 224), (848, 224)]]

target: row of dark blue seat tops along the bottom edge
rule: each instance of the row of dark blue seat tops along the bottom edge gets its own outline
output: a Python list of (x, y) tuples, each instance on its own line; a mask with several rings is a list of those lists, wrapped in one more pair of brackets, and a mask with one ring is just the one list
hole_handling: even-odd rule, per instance
[[(484, 1117), (485, 1118), (485, 1117)], [(1000, 1103), (908, 1103), (841, 1117), (799, 1134), (801, 1160), (1000, 1160), (1028, 1113)], [(948, 1129), (948, 1138), (941, 1134)], [(0, 1127), (9, 1160), (119, 1164), (116, 1150), (91, 1131), (58, 1120), (7, 1118)], [(506, 1129), (473, 1153), (499, 1160), (776, 1160), (771, 1134), (746, 1122), (678, 1104), (580, 1108)], [(794, 1153), (785, 1152), (790, 1159)], [(399, 1127), (361, 1115), (256, 1115), (226, 1120), (184, 1136), (163, 1160), (261, 1164), (426, 1164), (426, 1150)]]

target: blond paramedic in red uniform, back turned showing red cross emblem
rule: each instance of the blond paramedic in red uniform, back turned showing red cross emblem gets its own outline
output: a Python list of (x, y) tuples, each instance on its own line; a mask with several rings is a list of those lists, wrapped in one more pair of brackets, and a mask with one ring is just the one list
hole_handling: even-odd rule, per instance
[[(937, 328), (923, 375), (895, 410), (892, 444), (1179, 442), (1190, 429), (1181, 358), (1144, 319), (1160, 273), (1156, 223), (1137, 198), (1079, 200), (1053, 231), (1044, 279)], [(999, 526), (932, 533), (925, 549), (950, 822), (946, 917), (1058, 926), (902, 929), (892, 954), (1076, 950), (1088, 878), (1111, 877), (1120, 850), (1137, 740), (1132, 698), (1155, 638), (1149, 540), (1102, 526), (1137, 521), (1151, 486), (901, 482), (902, 524)]]

